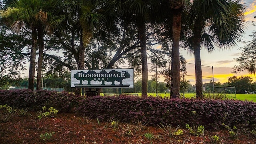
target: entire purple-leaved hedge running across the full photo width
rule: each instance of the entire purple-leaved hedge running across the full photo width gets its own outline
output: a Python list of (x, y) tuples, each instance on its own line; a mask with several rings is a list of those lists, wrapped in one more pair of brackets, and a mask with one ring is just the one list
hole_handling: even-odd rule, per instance
[(150, 125), (203, 125), (218, 128), (224, 124), (256, 124), (256, 103), (240, 100), (164, 99), (134, 96), (93, 96), (84, 98), (67, 92), (39, 90), (0, 90), (0, 105), (42, 110), (54, 107), (60, 112), (78, 112), (102, 121), (146, 122)]

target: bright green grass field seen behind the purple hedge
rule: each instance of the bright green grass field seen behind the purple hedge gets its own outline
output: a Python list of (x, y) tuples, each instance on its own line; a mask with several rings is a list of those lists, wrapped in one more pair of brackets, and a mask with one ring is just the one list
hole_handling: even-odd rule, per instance
[[(141, 93), (137, 93), (139, 96), (141, 96)], [(183, 94), (182, 94), (183, 95)], [(185, 93), (185, 98), (195, 98), (195, 93)], [(225, 95), (225, 94), (224, 94)], [(148, 96), (156, 96), (156, 93), (148, 93)], [(160, 93), (158, 96), (161, 96), (162, 98), (167, 97), (170, 98), (170, 93)], [(256, 94), (226, 94), (226, 98), (228, 99), (234, 99), (234, 100), (248, 100), (256, 102)]]

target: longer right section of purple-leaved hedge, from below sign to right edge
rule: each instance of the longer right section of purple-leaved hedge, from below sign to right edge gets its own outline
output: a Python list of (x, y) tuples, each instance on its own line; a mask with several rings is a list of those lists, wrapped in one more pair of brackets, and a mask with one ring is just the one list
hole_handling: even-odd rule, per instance
[(77, 108), (84, 116), (151, 125), (203, 125), (218, 128), (224, 124), (256, 124), (256, 103), (239, 100), (163, 99), (132, 96), (86, 98)]

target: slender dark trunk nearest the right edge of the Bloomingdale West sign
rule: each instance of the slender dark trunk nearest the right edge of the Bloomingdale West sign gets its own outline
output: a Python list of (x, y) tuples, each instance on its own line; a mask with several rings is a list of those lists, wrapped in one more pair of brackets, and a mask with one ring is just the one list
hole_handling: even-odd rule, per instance
[(148, 61), (147, 61), (147, 49), (146, 49), (146, 27), (142, 18), (138, 22), (138, 37), (140, 39), (140, 55), (142, 63), (142, 97), (148, 96)]

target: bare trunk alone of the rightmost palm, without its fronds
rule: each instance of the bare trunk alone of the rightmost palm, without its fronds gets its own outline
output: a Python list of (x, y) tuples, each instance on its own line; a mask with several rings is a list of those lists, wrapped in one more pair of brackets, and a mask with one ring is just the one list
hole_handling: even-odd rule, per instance
[(202, 20), (196, 20), (194, 24), (194, 57), (195, 57), (195, 72), (196, 72), (196, 98), (202, 98), (203, 96), (203, 79), (202, 79), (202, 66), (201, 66), (201, 56), (200, 56), (200, 42), (201, 33), (204, 27), (204, 22)]

